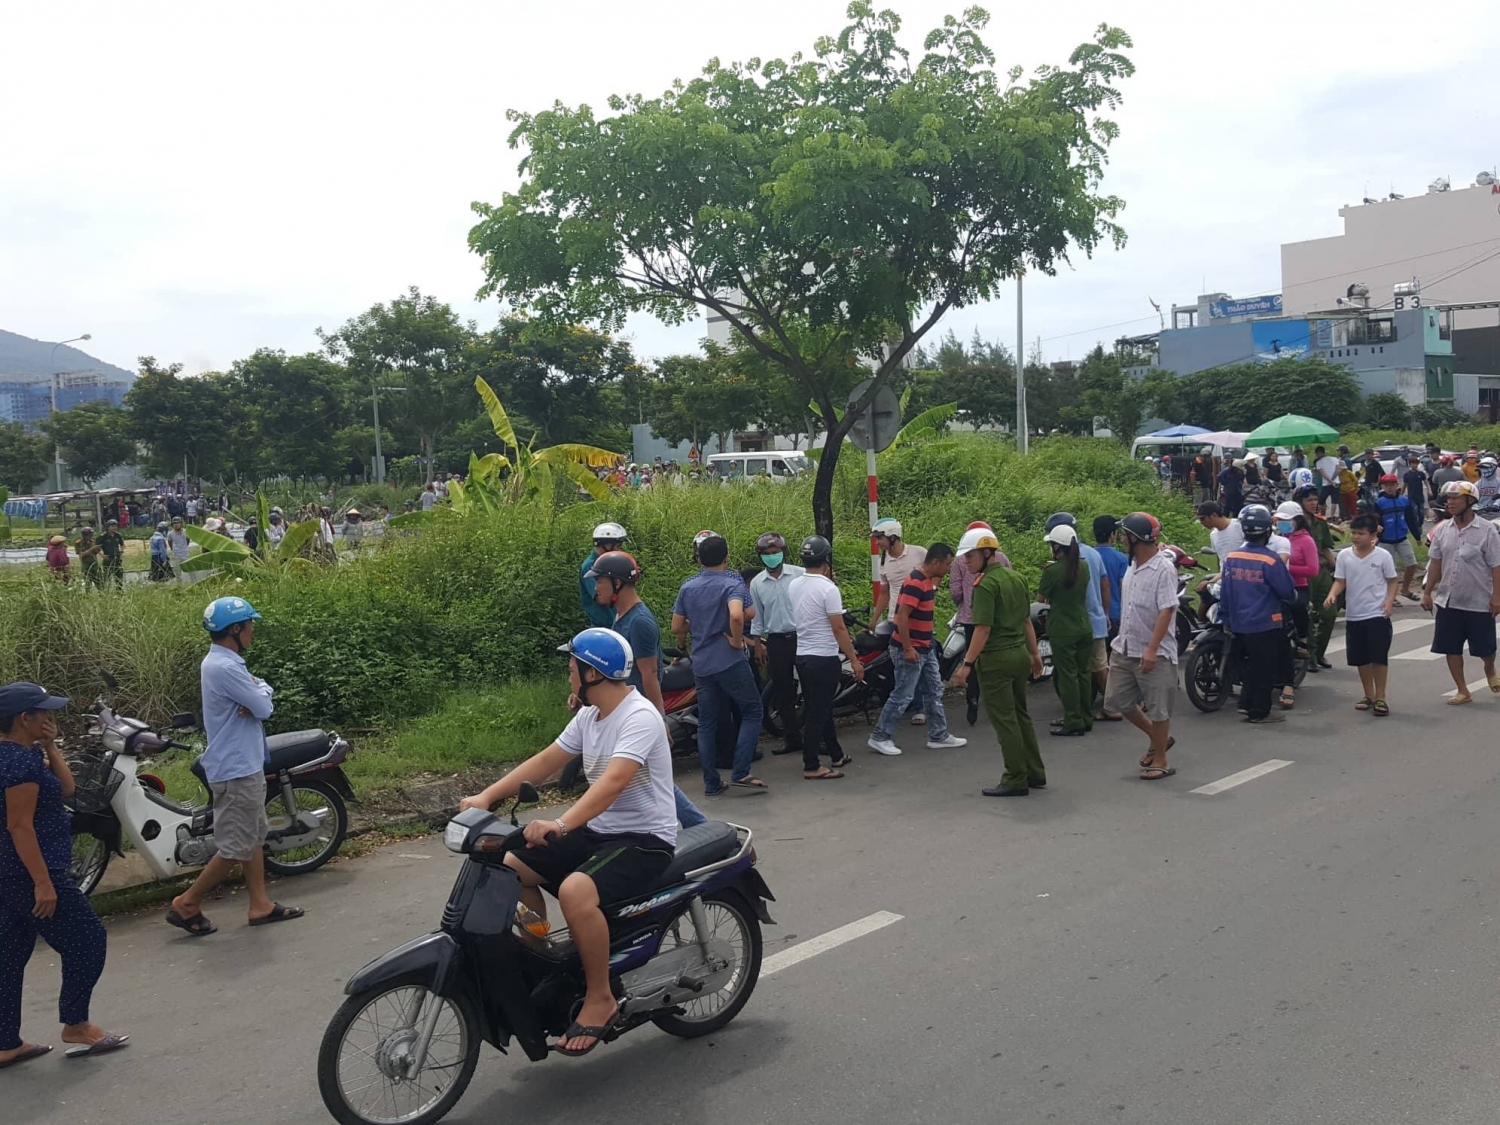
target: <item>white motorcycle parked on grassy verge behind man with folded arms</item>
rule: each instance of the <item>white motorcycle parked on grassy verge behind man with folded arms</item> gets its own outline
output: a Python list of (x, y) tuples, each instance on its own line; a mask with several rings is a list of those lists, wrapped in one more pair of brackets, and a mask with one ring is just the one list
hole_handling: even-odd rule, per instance
[[(72, 807), (74, 862), (69, 874), (84, 894), (104, 879), (111, 855), (124, 855), (129, 838), (156, 879), (202, 867), (216, 854), (213, 794), (200, 806), (166, 796), (166, 786), (141, 772), (141, 754), (166, 748), (190, 750), (153, 732), (138, 718), (117, 716), (99, 699), (90, 730), (102, 752), (72, 758), (76, 790)], [(172, 718), (172, 728), (198, 724), (194, 714)], [(266, 740), (266, 870), (306, 874), (332, 860), (350, 828), (345, 801), (357, 800), (342, 764), (350, 744), (326, 730), (297, 730)], [(202, 762), (194, 776), (204, 784)]]

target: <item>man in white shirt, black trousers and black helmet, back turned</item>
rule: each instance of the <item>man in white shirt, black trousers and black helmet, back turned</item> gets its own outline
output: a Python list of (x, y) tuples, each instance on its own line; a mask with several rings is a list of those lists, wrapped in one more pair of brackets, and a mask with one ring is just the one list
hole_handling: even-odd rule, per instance
[[(808, 782), (834, 782), (840, 766), (850, 759), (838, 746), (834, 728), (834, 698), (843, 681), (843, 662), (855, 680), (864, 680), (864, 664), (843, 620), (843, 597), (834, 585), (832, 546), (822, 536), (802, 540), (802, 566), (807, 573), (792, 584), (792, 624), (796, 628), (796, 674), (802, 681), (802, 777)], [(818, 760), (819, 752), (832, 766)]]

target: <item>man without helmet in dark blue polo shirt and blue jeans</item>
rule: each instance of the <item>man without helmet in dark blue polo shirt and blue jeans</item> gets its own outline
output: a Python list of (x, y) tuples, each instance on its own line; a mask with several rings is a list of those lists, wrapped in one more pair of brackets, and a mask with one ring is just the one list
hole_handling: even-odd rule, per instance
[(716, 531), (698, 537), (702, 566), (682, 584), (672, 606), (672, 632), (687, 648), (693, 638), (693, 682), (698, 687), (698, 760), (704, 766), (704, 792), (716, 796), (728, 786), (718, 774), (718, 723), (730, 706), (740, 710), (740, 735), (730, 783), (765, 792), (766, 784), (750, 774), (754, 744), (760, 740), (760, 692), (746, 658), (746, 626), (754, 603), (744, 579), (726, 568), (729, 543)]

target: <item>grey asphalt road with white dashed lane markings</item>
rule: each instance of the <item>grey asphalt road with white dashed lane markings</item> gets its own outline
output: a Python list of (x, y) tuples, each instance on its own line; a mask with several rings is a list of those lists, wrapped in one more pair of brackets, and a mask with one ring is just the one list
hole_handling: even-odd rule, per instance
[[(1420, 652), (1430, 620), (1398, 620)], [(903, 730), (903, 758), (860, 753), (832, 784), (768, 760), (771, 795), (722, 798), (780, 898), (768, 952), (903, 920), (764, 980), (708, 1040), (642, 1029), (542, 1065), (486, 1047), (448, 1120), (1492, 1125), (1500, 698), (1448, 708), (1442, 662), (1392, 668), (1386, 720), (1352, 710), (1346, 669), (1284, 726), (1190, 711), (1154, 784), (1113, 726), (1044, 740), (1052, 784), (1018, 801), (980, 796), (984, 728), (952, 752)], [(1191, 792), (1270, 759), (1292, 765)], [(326, 1120), (340, 981), (435, 922), (456, 862), (408, 842), (284, 882), (310, 915), (272, 930), (237, 924), (243, 898), (201, 942), (114, 921), (96, 1010), (135, 1046), (8, 1072), (4, 1119)], [(56, 1029), (54, 960), (33, 962), (33, 1036)]]

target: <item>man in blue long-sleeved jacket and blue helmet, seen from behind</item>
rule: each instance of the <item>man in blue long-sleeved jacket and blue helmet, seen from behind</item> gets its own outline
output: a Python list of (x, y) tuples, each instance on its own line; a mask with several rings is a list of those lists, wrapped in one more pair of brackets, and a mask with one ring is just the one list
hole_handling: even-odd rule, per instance
[(1292, 682), (1292, 645), (1284, 626), (1286, 606), (1296, 600), (1292, 572), (1272, 550), (1270, 510), (1251, 504), (1239, 513), (1244, 546), (1230, 550), (1220, 573), (1220, 612), (1234, 634), (1230, 660), (1244, 668), (1240, 702), (1251, 723), (1281, 723), (1270, 712), (1270, 693)]

